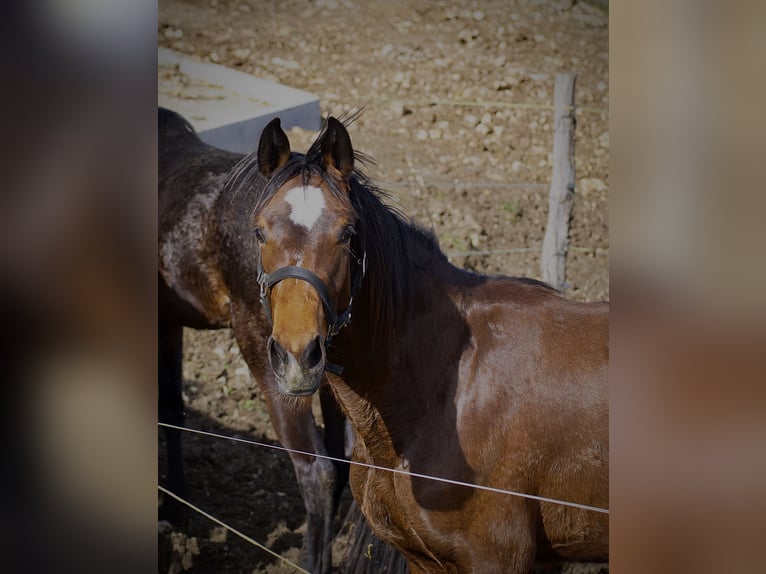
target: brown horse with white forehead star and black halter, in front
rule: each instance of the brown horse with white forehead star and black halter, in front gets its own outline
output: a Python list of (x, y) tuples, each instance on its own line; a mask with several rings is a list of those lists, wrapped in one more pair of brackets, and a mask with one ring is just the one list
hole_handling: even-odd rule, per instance
[(274, 120), (227, 184), (268, 180), (250, 219), (279, 390), (329, 381), (354, 460), (400, 471), (353, 466), (351, 486), (413, 573), (607, 560), (606, 512), (412, 474), (605, 508), (608, 304), (452, 266), (358, 159), (335, 118), (305, 155)]

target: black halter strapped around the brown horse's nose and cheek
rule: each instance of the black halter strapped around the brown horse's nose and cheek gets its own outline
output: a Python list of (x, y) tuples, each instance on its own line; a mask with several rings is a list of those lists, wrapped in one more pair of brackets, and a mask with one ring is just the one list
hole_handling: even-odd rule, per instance
[[(330, 294), (327, 292), (327, 287), (316, 274), (303, 267), (296, 267), (293, 265), (287, 265), (276, 269), (271, 273), (266, 273), (263, 270), (261, 254), (259, 253), (257, 267), (258, 276), (256, 277), (256, 281), (261, 287), (261, 305), (263, 305), (263, 309), (266, 311), (266, 316), (269, 318), (269, 321), (273, 322), (271, 316), (271, 288), (280, 281), (288, 278), (306, 281), (316, 289), (319, 298), (322, 300), (325, 316), (327, 317), (327, 338), (325, 339), (325, 343), (329, 345), (332, 338), (337, 335), (343, 327), (351, 323), (351, 306), (354, 303), (354, 296), (359, 291), (362, 279), (364, 279), (364, 274), (367, 272), (367, 252), (364, 253), (361, 259), (357, 259), (356, 262), (360, 266), (360, 269), (354, 274), (354, 277), (351, 280), (351, 298), (348, 301), (348, 307), (346, 307), (345, 311), (338, 314), (335, 311), (335, 306), (330, 300)], [(331, 373), (339, 375), (342, 372), (343, 367), (327, 364), (325, 369)]]

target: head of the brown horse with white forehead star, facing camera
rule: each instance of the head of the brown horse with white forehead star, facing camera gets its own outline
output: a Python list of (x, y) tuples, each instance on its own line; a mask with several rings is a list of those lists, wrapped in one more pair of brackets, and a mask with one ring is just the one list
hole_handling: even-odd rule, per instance
[(275, 119), (261, 135), (258, 166), (267, 179), (255, 234), (261, 301), (272, 321), (268, 357), (281, 392), (308, 395), (322, 382), (326, 345), (350, 319), (364, 273), (349, 198), (354, 151), (331, 117), (305, 157), (291, 154)]

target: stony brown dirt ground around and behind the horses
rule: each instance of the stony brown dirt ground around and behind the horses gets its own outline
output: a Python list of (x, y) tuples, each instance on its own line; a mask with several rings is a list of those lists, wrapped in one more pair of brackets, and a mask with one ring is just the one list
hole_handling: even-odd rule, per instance
[[(363, 106), (349, 131), (354, 147), (375, 159), (373, 179), (405, 213), (433, 227), (455, 265), (506, 275), (539, 277), (554, 75), (576, 72), (566, 294), (606, 299), (608, 15), (582, 1), (568, 4), (160, 0), (158, 33), (163, 47), (312, 92), (323, 114)], [(315, 135), (288, 133), (298, 151)], [(275, 442), (230, 333), (187, 330), (184, 344), (188, 426)], [(304, 510), (287, 455), (198, 435), (184, 441), (194, 501), (297, 561)], [(162, 574), (291, 571), (204, 518), (163, 528)]]

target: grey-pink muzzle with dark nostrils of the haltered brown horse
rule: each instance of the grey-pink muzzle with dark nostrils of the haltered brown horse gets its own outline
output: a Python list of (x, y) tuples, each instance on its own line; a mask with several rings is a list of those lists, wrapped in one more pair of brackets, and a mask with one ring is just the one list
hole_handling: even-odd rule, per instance
[(298, 357), (287, 351), (274, 337), (269, 337), (267, 349), (279, 392), (292, 396), (307, 396), (316, 392), (322, 384), (325, 368), (324, 344), (319, 335)]

